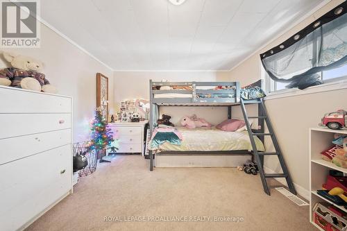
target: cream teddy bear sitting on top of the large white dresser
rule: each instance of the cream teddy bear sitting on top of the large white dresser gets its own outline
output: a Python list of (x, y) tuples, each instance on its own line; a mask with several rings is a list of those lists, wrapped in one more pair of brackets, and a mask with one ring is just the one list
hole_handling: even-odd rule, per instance
[(10, 62), (12, 67), (0, 70), (0, 85), (57, 93), (56, 87), (41, 73), (43, 63), (39, 60), (8, 52), (3, 52), (3, 58)]

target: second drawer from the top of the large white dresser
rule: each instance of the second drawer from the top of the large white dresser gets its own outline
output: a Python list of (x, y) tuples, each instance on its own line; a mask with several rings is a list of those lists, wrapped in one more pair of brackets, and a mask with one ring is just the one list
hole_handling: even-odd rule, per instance
[(0, 114), (0, 139), (71, 128), (71, 114)]

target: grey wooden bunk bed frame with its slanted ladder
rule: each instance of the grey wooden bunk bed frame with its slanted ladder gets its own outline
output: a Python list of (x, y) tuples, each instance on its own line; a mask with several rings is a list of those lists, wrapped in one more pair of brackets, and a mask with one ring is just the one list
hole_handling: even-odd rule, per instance
[[(251, 89), (262, 88), (262, 80), (248, 85)], [(242, 99), (241, 92), (247, 92), (240, 88), (239, 82), (153, 82), (149, 81), (150, 89), (150, 137), (152, 137), (156, 122), (160, 115), (160, 106), (220, 106), (228, 107), (228, 119), (232, 118), (232, 107), (240, 106), (244, 121), (246, 123), (246, 132), (248, 140), (251, 143), (251, 148), (227, 148), (231, 150), (189, 150), (189, 148), (177, 149), (168, 148), (169, 151), (160, 151), (153, 153), (149, 151), (150, 171), (153, 171), (155, 166), (154, 160), (159, 157), (169, 157), (169, 161), (177, 160), (199, 160), (203, 156), (210, 156), (208, 162), (213, 162), (215, 159), (221, 162), (227, 162), (228, 159), (216, 158), (220, 157), (239, 157), (242, 155), (252, 155), (252, 160), (257, 163), (264, 192), (270, 195), (270, 189), (267, 185), (266, 178), (285, 178), (289, 191), (296, 194), (294, 184), (282, 156), (282, 151), (278, 144), (275, 132), (271, 125), (271, 121), (266, 112), (266, 107), (262, 98), (254, 97), (253, 99)], [(251, 94), (251, 93), (250, 93)], [(244, 98), (244, 95), (243, 95)], [(258, 99), (259, 98), (259, 99)], [(248, 116), (246, 112), (246, 104), (257, 105), (257, 115)], [(253, 129), (250, 119), (257, 119), (257, 129)], [(267, 126), (269, 132), (264, 132), (264, 126)], [(226, 135), (228, 132), (224, 132)], [(236, 132), (230, 132), (236, 133)], [(275, 151), (264, 151), (264, 148), (259, 148), (259, 142), (263, 146), (264, 137), (269, 136), (273, 142)], [(239, 140), (237, 140), (238, 142)], [(235, 142), (235, 141), (230, 141)], [(172, 147), (172, 146), (171, 146)], [(264, 147), (264, 146), (263, 146)], [(188, 149), (188, 150), (187, 150)], [(221, 148), (222, 149), (222, 148)], [(234, 150), (235, 149), (235, 150)], [(265, 173), (264, 172), (264, 156), (277, 156), (282, 168), (282, 173)], [(242, 161), (242, 160), (239, 160)], [(221, 163), (219, 162), (219, 164)], [(241, 162), (240, 162), (241, 163)]]

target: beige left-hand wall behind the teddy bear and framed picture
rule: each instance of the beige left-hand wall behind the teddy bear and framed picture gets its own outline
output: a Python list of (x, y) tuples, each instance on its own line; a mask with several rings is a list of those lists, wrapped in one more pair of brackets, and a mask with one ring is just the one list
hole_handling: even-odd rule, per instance
[[(45, 65), (43, 72), (51, 84), (58, 87), (58, 94), (74, 97), (74, 142), (85, 141), (90, 134), (90, 120), (96, 108), (97, 72), (109, 77), (110, 103), (113, 105), (112, 71), (44, 25), (41, 27), (40, 49), (2, 51), (42, 60)], [(8, 67), (9, 64), (0, 56), (0, 67)]]

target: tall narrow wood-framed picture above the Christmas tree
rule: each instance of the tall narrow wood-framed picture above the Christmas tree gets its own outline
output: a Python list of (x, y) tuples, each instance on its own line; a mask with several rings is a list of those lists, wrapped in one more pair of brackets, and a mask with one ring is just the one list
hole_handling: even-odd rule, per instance
[(101, 73), (96, 73), (96, 108), (101, 116), (108, 121), (108, 78)]

